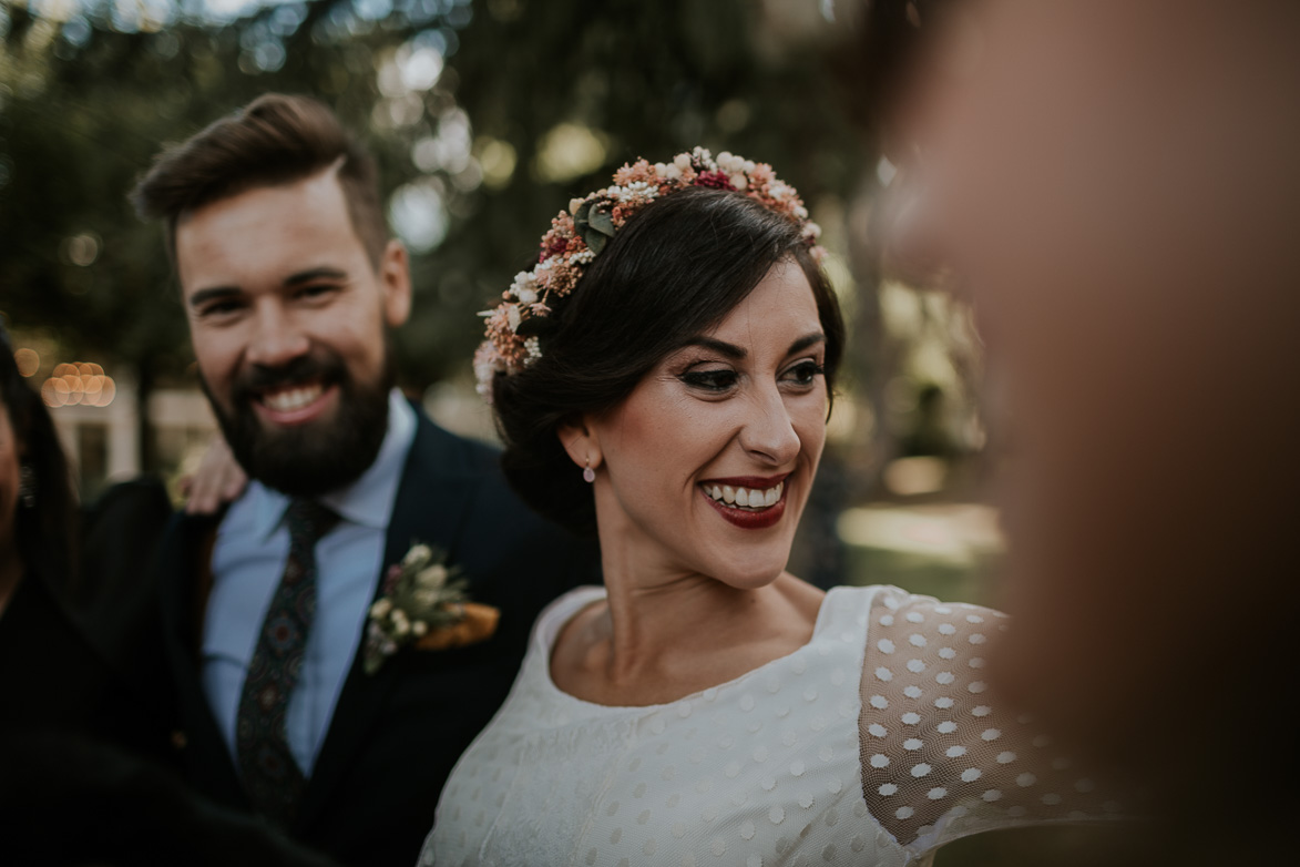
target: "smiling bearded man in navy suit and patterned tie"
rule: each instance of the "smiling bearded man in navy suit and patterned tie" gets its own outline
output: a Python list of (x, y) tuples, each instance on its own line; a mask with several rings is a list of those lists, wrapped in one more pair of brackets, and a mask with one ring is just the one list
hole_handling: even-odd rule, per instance
[[(328, 108), (264, 95), (164, 152), (133, 199), (165, 224), (203, 389), (251, 478), (160, 552), (179, 766), (344, 863), (410, 867), (534, 616), (599, 580), (594, 552), (394, 389), (407, 253)], [(404, 629), (378, 616), (416, 546), (463, 575), (477, 632), (417, 625), (410, 598)]]

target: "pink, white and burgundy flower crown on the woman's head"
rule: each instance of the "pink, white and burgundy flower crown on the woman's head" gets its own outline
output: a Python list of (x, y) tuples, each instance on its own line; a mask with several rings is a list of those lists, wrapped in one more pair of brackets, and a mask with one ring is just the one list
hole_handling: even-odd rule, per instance
[(611, 238), (644, 207), (686, 187), (712, 187), (744, 192), (763, 207), (786, 216), (800, 226), (803, 240), (818, 260), (822, 229), (809, 220), (807, 208), (794, 187), (777, 179), (772, 166), (732, 153), (714, 156), (697, 147), (679, 153), (672, 162), (637, 160), (614, 173), (614, 186), (585, 199), (572, 199), (569, 209), (551, 220), (542, 237), (542, 250), (532, 270), (520, 272), (502, 302), (480, 316), (488, 320), (486, 335), (474, 352), (478, 394), (491, 400), (497, 373), (519, 373), (542, 357), (538, 337), (551, 322), (555, 303), (573, 291), (582, 272), (601, 255)]

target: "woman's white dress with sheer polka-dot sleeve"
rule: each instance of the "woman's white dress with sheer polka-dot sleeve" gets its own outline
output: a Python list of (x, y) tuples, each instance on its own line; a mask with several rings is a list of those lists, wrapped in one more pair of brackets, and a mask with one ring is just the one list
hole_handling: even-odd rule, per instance
[(968, 833), (1106, 815), (1030, 720), (988, 706), (1002, 615), (897, 588), (836, 588), (812, 638), (668, 705), (560, 692), (551, 647), (603, 598), (538, 617), (506, 703), (443, 789), (421, 864), (926, 863)]

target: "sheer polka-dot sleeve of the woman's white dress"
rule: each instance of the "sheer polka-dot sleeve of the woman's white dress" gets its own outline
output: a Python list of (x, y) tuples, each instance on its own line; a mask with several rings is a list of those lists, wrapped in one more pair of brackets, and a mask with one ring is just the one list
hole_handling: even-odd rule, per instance
[(876, 594), (862, 669), (862, 793), (915, 853), (980, 831), (1114, 815), (1034, 721), (998, 706), (983, 651), (1008, 617), (896, 588)]

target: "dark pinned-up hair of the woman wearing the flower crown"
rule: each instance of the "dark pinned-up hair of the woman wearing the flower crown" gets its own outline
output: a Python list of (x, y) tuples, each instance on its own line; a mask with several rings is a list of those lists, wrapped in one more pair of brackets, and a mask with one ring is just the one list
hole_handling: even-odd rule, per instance
[(630, 217), (556, 305), (541, 357), (493, 378), (502, 467), (524, 502), (594, 534), (592, 486), (564, 451), (559, 426), (618, 407), (660, 360), (722, 322), (786, 259), (812, 286), (829, 390), (844, 322), (794, 221), (744, 194), (708, 187), (673, 192)]

